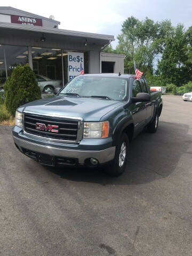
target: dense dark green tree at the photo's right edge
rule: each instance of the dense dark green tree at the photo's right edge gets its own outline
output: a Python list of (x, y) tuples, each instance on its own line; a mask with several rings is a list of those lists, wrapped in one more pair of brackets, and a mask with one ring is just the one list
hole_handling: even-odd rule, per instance
[(165, 40), (165, 49), (158, 62), (157, 74), (164, 84), (181, 86), (192, 79), (191, 28), (185, 31), (182, 24)]

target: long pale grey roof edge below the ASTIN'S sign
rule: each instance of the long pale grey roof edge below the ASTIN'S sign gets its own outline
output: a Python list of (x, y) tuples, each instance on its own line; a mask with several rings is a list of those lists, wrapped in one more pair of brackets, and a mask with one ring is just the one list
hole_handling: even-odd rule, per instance
[(37, 32), (37, 33), (50, 33), (50, 34), (58, 34), (58, 35), (65, 35), (65, 36), (95, 38), (95, 39), (102, 39), (102, 40), (108, 40), (108, 41), (115, 40), (114, 36), (112, 36), (112, 35), (94, 34), (94, 33), (73, 31), (73, 30), (66, 30), (66, 29), (59, 29), (59, 28), (27, 26), (27, 25), (20, 25), (20, 24), (14, 24), (14, 23), (0, 22), (0, 28), (18, 29), (18, 30), (26, 30), (26, 31), (31, 31), (31, 32), (33, 31), (33, 32)]

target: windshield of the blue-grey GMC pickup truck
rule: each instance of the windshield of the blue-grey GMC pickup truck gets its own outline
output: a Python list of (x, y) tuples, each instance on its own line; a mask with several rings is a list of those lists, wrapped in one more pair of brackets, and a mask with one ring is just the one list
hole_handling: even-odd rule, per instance
[(77, 76), (69, 82), (59, 95), (94, 97), (124, 100), (127, 95), (127, 80), (103, 76)]

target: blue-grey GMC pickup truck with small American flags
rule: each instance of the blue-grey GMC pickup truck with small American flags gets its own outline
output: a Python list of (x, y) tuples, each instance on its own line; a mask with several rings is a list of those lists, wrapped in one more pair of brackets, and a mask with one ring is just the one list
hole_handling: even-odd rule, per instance
[(19, 107), (13, 140), (41, 164), (105, 166), (118, 176), (132, 139), (145, 127), (157, 131), (162, 107), (162, 93), (150, 92), (144, 77), (79, 75), (55, 97)]

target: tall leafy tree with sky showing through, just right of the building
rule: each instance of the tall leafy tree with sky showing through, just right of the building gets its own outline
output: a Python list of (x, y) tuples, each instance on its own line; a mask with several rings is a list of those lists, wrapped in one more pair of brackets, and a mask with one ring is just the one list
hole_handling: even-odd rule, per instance
[(122, 25), (122, 33), (117, 36), (116, 52), (125, 54), (125, 73), (134, 73), (133, 60), (137, 67), (153, 73), (153, 62), (159, 53), (163, 52), (165, 38), (173, 31), (171, 22), (164, 20), (154, 22), (146, 18), (140, 21), (136, 18), (127, 18)]

